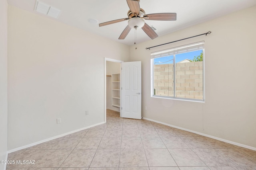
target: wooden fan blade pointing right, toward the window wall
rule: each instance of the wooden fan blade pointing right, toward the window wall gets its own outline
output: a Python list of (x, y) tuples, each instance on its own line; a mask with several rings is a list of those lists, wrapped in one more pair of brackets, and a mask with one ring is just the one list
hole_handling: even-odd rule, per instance
[(146, 14), (143, 16), (145, 20), (159, 20), (159, 21), (176, 21), (176, 13), (157, 13)]

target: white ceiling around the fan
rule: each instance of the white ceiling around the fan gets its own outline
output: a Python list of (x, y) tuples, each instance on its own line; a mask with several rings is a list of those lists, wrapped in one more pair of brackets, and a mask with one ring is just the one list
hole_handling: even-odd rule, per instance
[[(8, 4), (22, 8), (29, 12), (42, 15), (34, 11), (36, 0), (7, 0)], [(126, 0), (40, 0), (61, 10), (58, 19), (52, 18), (74, 27), (96, 33), (126, 45), (134, 44), (135, 31), (132, 29), (124, 40), (118, 37), (127, 26), (128, 21), (99, 27), (98, 24), (88, 22), (94, 18), (99, 23), (127, 18), (129, 10)], [(150, 21), (148, 25), (156, 28), (161, 36), (177, 31), (184, 27), (217, 18), (244, 8), (256, 5), (256, 0), (140, 0), (140, 8), (146, 14), (175, 12), (176, 21)], [(42, 15), (43, 16), (43, 15)], [(45, 16), (50, 18), (49, 16)], [(210, 30), (206, 30), (210, 31)], [(137, 43), (148, 41), (150, 38), (142, 29), (137, 30)]]

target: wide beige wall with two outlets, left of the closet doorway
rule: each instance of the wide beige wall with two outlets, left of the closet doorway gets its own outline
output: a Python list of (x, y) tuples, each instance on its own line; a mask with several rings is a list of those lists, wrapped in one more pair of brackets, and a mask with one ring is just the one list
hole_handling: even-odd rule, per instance
[(104, 57), (129, 47), (9, 6), (8, 150), (104, 122)]

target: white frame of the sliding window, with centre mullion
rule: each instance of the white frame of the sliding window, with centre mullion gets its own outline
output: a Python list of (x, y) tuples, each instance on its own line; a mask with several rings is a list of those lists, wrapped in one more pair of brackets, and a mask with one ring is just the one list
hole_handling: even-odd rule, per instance
[[(154, 95), (154, 59), (155, 58), (160, 58), (160, 57), (167, 57), (170, 55), (177, 55), (177, 54), (181, 54), (181, 53), (188, 53), (191, 51), (198, 51), (198, 50), (202, 50), (203, 51), (203, 61), (202, 61), (202, 84), (203, 84), (203, 89), (202, 89), (202, 97), (203, 99), (190, 99), (190, 98), (178, 98), (175, 96), (157, 96)], [(188, 44), (188, 45), (183, 45), (183, 46), (179, 46), (179, 47), (174, 47), (171, 49), (164, 49), (162, 51), (156, 51), (156, 52), (152, 52), (151, 53), (151, 68), (150, 68), (150, 72), (151, 72), (151, 97), (153, 98), (166, 98), (166, 99), (173, 99), (173, 100), (185, 100), (185, 101), (193, 101), (193, 102), (205, 102), (205, 55), (204, 55), (204, 41), (201, 42), (197, 42), (197, 43), (192, 43), (192, 44)], [(174, 57), (174, 81), (175, 80), (175, 57)], [(174, 82), (174, 94), (175, 94), (175, 84), (176, 82)]]

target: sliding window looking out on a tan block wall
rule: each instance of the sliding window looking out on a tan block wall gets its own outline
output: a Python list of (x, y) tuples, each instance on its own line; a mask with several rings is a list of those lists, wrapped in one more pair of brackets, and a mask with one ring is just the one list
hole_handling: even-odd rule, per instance
[(151, 96), (204, 101), (204, 42), (151, 53)]

